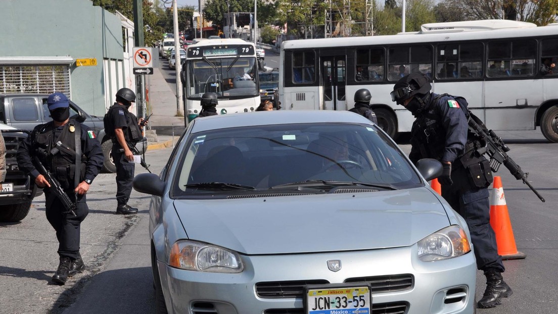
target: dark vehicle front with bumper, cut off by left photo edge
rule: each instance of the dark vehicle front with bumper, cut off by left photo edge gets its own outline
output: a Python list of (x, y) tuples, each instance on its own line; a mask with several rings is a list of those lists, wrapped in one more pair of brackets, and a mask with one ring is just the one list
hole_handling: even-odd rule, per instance
[(6, 180), (0, 189), (0, 223), (13, 223), (27, 216), (33, 198), (42, 194), (42, 189), (37, 188), (35, 180), (17, 165), (17, 149), (28, 131), (3, 123), (0, 123), (0, 131), (6, 144)]

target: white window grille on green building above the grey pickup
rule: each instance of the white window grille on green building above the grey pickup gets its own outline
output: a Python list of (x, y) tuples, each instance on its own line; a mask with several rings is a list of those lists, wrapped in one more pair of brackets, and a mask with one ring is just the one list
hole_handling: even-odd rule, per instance
[(60, 91), (70, 96), (70, 67), (67, 65), (0, 65), (0, 93)]

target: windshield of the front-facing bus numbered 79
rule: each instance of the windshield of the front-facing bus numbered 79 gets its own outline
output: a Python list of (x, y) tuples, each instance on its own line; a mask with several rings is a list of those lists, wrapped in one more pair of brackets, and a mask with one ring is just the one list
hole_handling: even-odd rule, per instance
[(189, 60), (186, 96), (196, 99), (210, 92), (233, 98), (257, 96), (255, 65), (255, 57)]

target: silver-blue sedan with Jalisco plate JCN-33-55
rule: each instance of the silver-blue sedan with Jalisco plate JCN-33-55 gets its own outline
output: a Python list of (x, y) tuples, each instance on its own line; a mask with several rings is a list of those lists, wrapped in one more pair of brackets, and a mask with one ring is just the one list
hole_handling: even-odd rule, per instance
[(153, 195), (157, 313), (473, 313), (468, 227), (428, 184), (441, 171), (350, 112), (195, 119), (133, 182)]

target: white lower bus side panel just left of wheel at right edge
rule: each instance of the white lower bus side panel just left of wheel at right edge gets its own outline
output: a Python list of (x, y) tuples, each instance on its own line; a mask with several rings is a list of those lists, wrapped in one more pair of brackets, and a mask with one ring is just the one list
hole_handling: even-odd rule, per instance
[(541, 80), (486, 81), (484, 99), (489, 129), (533, 130), (537, 107), (543, 101)]

